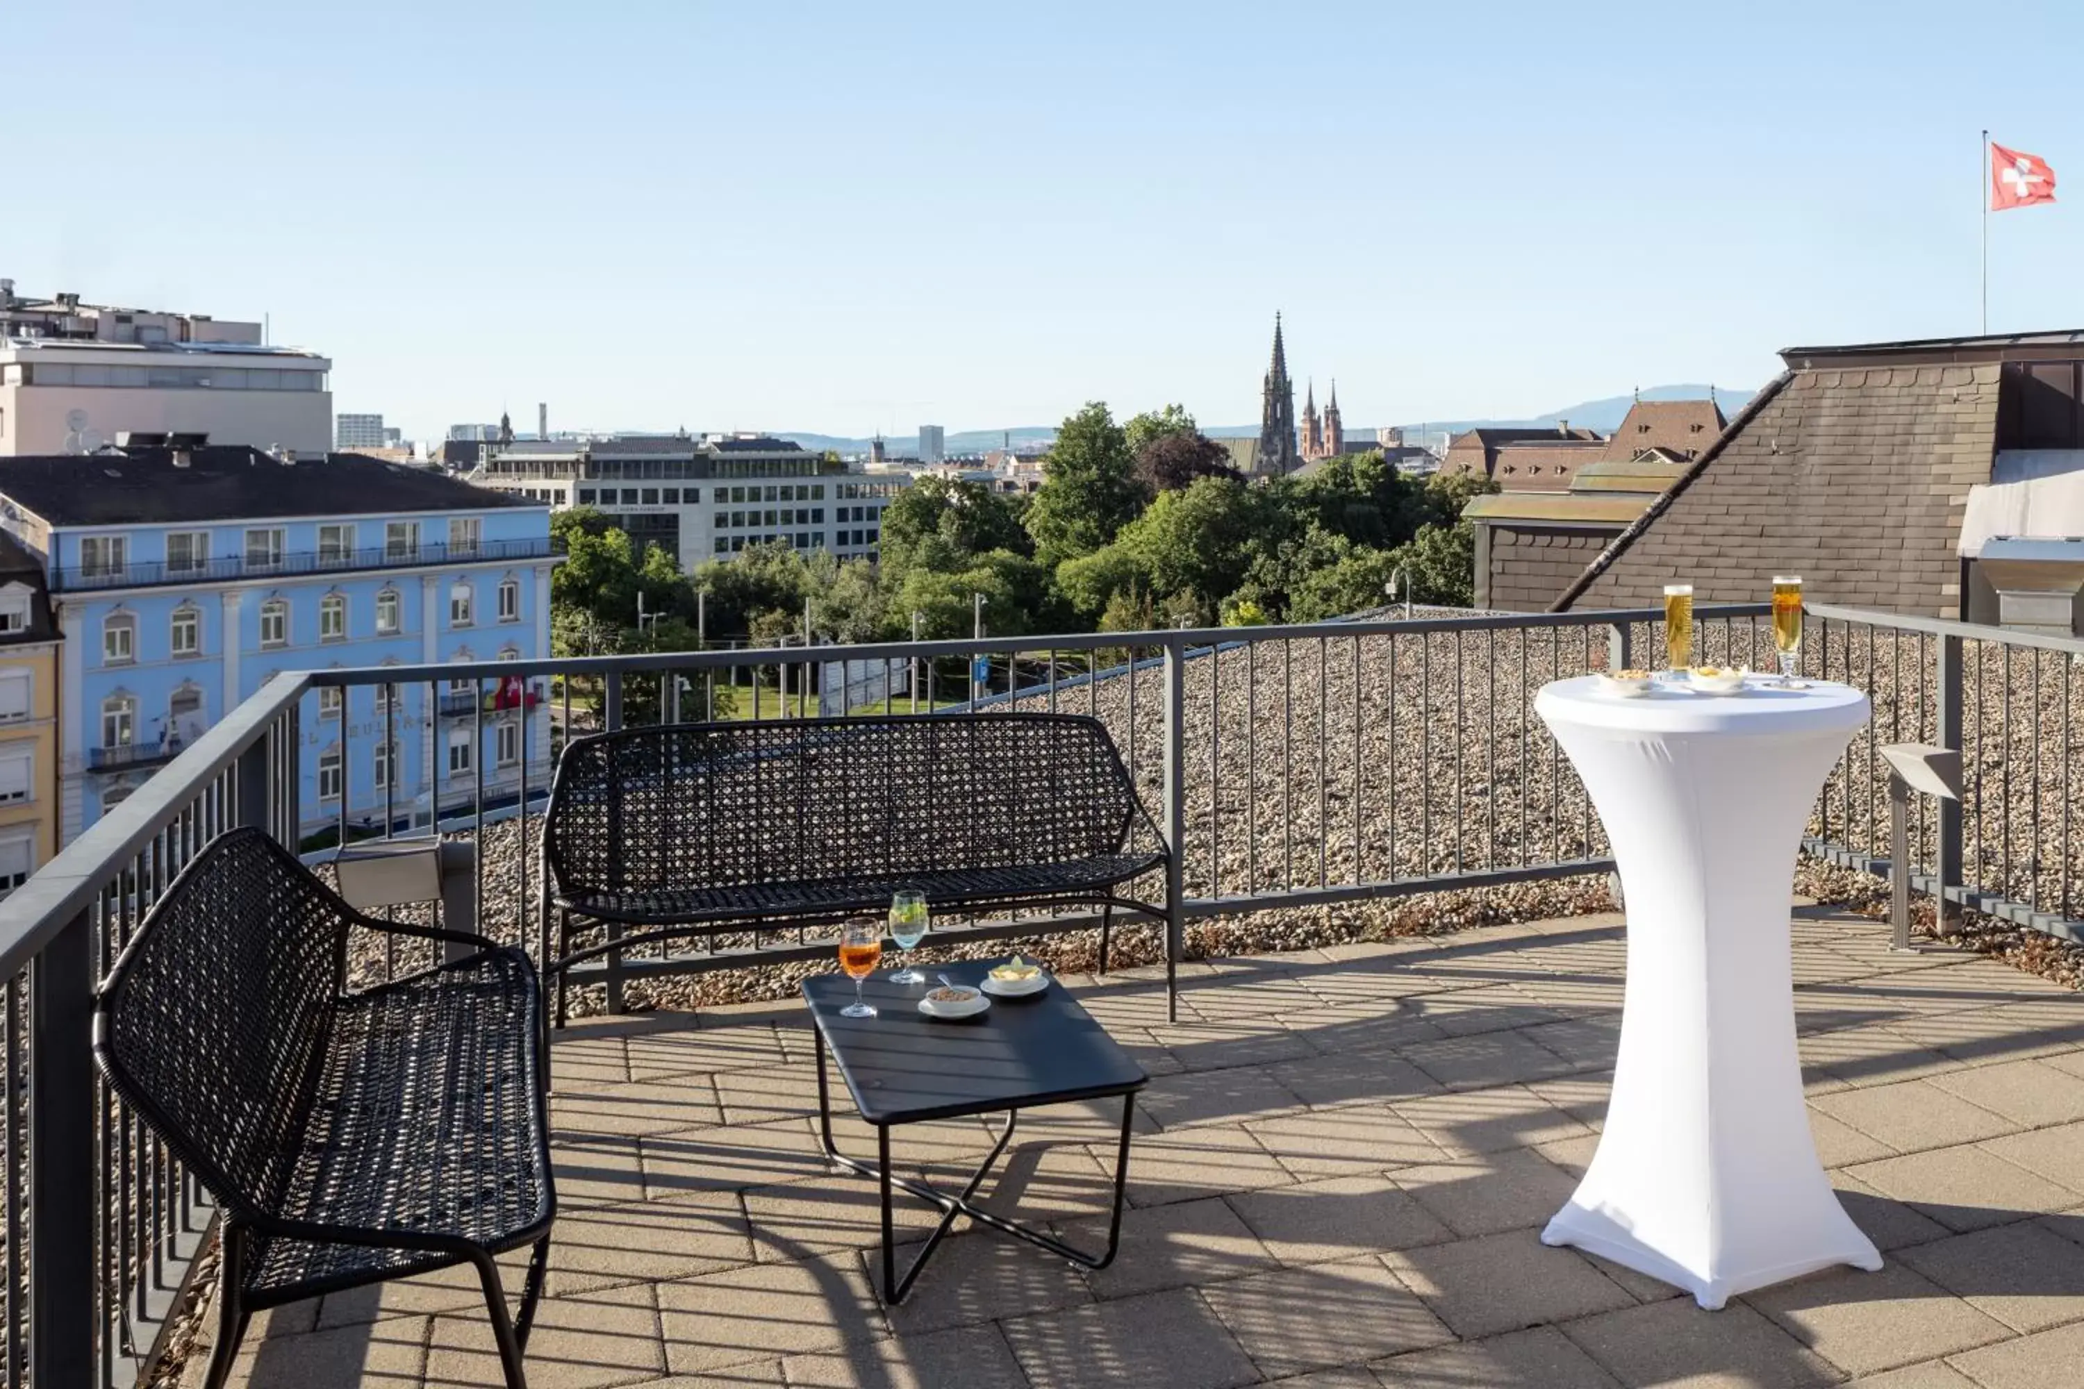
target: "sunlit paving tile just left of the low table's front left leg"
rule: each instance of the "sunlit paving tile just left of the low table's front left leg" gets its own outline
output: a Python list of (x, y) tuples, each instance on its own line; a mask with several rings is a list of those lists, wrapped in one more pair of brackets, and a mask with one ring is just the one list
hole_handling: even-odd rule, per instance
[[(882, 1304), (854, 1254), (748, 1264), (659, 1283), (656, 1293), (665, 1358), (673, 1374), (700, 1374), (888, 1335)], [(534, 1360), (534, 1345), (529, 1349)]]

